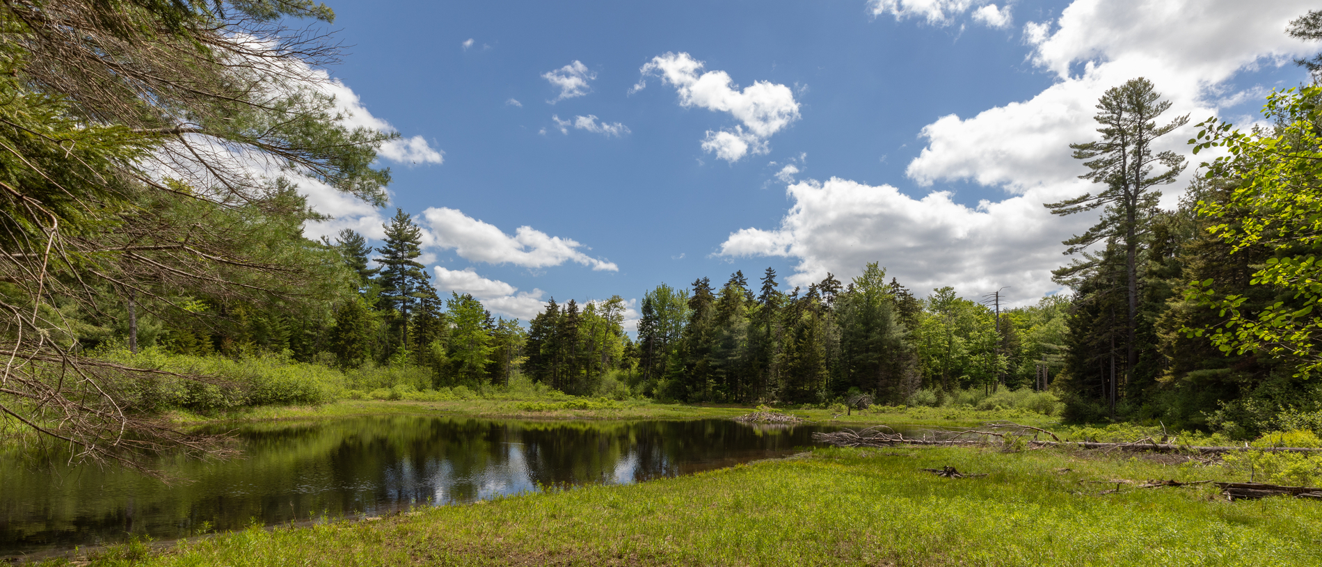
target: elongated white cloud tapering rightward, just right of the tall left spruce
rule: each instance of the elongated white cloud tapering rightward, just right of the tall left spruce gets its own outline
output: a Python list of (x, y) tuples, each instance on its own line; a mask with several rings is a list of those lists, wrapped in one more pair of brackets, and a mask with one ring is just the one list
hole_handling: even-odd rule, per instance
[(452, 248), (472, 262), (512, 263), (526, 268), (574, 262), (592, 270), (620, 270), (613, 262), (588, 256), (580, 250), (587, 247), (572, 239), (551, 237), (530, 226), (520, 226), (512, 237), (455, 209), (430, 208), (419, 215), (419, 225), (427, 229), (424, 247)]

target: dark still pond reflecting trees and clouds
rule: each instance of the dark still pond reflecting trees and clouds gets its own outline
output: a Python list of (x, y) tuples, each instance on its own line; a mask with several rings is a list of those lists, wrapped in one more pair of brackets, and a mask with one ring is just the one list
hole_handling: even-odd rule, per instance
[[(165, 485), (115, 468), (0, 463), (0, 556), (382, 515), (545, 486), (628, 484), (787, 456), (821, 426), (379, 416), (237, 426), (243, 457), (161, 457)], [(226, 430), (227, 431), (227, 430)]]

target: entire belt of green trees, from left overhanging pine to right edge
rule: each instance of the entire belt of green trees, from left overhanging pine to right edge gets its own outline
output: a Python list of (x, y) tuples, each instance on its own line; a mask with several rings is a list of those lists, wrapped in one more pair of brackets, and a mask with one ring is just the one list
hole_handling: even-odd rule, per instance
[[(617, 296), (553, 301), (526, 328), (440, 296), (403, 211), (375, 250), (352, 231), (307, 238), (325, 217), (299, 180), (385, 206), (377, 149), (395, 135), (345, 126), (319, 86), (334, 45), (284, 28), (300, 19), (334, 15), (301, 0), (0, 5), (7, 424), (93, 460), (209, 451), (137, 411), (131, 394), (160, 373), (99, 356), (124, 345), (703, 402), (939, 403), (956, 389), (1036, 387), (1073, 420), (1322, 428), (1317, 77), (1273, 91), (1265, 126), (1196, 124), (1194, 153), (1218, 153), (1175, 210), (1157, 206), (1159, 188), (1186, 163), (1154, 148), (1190, 130), (1187, 116), (1162, 119), (1170, 104), (1146, 79), (1107, 91), (1099, 136), (1073, 145), (1097, 190), (1047, 204), (1100, 214), (1063, 243), (1076, 258), (1055, 274), (1068, 295), (1002, 309), (999, 295), (914, 293), (876, 263), (806, 289), (735, 272), (648, 291), (631, 337)], [(1322, 12), (1288, 33), (1322, 38)], [(1318, 73), (1319, 61), (1300, 63)]]

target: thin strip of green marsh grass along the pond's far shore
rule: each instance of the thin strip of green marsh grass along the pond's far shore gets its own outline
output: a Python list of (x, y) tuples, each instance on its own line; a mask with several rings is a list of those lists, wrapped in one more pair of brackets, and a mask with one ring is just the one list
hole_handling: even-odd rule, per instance
[[(353, 418), (393, 414), (453, 415), (490, 419), (730, 419), (751, 411), (755, 411), (755, 407), (587, 398), (571, 400), (467, 399), (446, 402), (344, 399), (320, 406), (259, 406), (213, 414), (172, 411), (168, 418), (180, 424)], [(813, 423), (862, 427), (875, 424), (948, 427), (994, 420), (1013, 420), (1039, 427), (1055, 423), (1055, 418), (1025, 410), (980, 411), (951, 407), (874, 406), (867, 410), (854, 410), (850, 412), (821, 408), (779, 408), (777, 411)]]

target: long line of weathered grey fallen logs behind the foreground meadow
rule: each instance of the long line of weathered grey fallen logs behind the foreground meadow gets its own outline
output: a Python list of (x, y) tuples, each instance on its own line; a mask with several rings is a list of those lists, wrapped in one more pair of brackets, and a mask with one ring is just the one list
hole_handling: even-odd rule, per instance
[(1281, 453), (1322, 453), (1317, 447), (1198, 447), (1179, 445), (1173, 443), (1157, 443), (1151, 437), (1140, 439), (1133, 443), (1099, 443), (1099, 441), (1062, 441), (1054, 434), (1031, 426), (1017, 423), (992, 423), (986, 430), (1011, 430), (1007, 432), (965, 430), (965, 431), (928, 431), (921, 439), (906, 437), (887, 426), (869, 427), (861, 431), (841, 430), (829, 434), (813, 434), (813, 440), (836, 447), (894, 447), (894, 445), (980, 445), (986, 444), (988, 437), (1027, 437), (1029, 431), (1038, 431), (1051, 435), (1055, 440), (1023, 439), (1027, 448), (1043, 447), (1075, 447), (1080, 449), (1125, 451), (1125, 452), (1157, 452), (1157, 453), (1200, 453), (1220, 455), (1247, 451), (1265, 451)]

